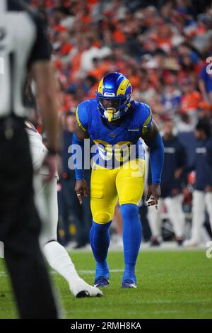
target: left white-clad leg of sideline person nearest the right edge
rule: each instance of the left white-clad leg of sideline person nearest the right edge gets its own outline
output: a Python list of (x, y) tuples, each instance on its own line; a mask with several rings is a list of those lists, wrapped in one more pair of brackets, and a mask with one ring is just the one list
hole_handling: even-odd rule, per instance
[(199, 243), (201, 227), (205, 218), (205, 193), (204, 191), (194, 191), (192, 207), (192, 237), (184, 242), (185, 247), (194, 247)]

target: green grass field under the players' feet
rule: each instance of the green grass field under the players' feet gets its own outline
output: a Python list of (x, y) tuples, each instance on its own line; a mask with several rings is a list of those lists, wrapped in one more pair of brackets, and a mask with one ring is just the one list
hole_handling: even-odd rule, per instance
[[(93, 283), (95, 263), (90, 252), (73, 252), (81, 276)], [(110, 252), (110, 287), (104, 298), (75, 299), (58, 274), (52, 273), (67, 318), (212, 318), (212, 259), (204, 251), (143, 251), (136, 276), (138, 288), (120, 288), (122, 252)], [(17, 317), (13, 295), (0, 259), (0, 318)]]

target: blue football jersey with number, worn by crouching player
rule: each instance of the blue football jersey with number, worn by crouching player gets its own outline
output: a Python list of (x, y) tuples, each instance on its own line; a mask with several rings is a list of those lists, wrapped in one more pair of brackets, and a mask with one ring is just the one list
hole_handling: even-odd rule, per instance
[(145, 159), (141, 135), (151, 126), (151, 108), (131, 101), (129, 110), (118, 124), (109, 123), (98, 111), (95, 98), (83, 101), (76, 111), (78, 125), (94, 142), (93, 162), (113, 169), (129, 159)]

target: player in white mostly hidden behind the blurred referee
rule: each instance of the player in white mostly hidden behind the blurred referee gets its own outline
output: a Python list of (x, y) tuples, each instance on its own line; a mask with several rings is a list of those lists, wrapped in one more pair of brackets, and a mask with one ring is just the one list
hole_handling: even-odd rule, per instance
[[(35, 171), (35, 204), (42, 220), (41, 245), (45, 257), (52, 267), (69, 283), (71, 293), (77, 298), (101, 296), (102, 291), (88, 285), (76, 272), (75, 266), (66, 249), (57, 242), (57, 174), (52, 181), (46, 182), (48, 171), (42, 166), (47, 149), (42, 137), (31, 123), (25, 123)], [(42, 166), (42, 167), (41, 167)]]

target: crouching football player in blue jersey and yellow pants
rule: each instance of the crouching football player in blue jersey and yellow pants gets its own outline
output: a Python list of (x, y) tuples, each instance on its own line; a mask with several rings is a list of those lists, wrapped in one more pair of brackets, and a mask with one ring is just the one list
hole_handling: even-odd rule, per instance
[[(72, 149), (90, 136), (92, 148), (92, 174), (90, 205), (93, 224), (90, 244), (96, 261), (94, 286), (109, 285), (110, 270), (107, 251), (110, 244), (109, 228), (114, 208), (119, 199), (123, 218), (125, 269), (122, 288), (136, 288), (135, 266), (141, 244), (141, 222), (138, 204), (143, 194), (145, 152), (141, 137), (150, 147), (152, 184), (146, 200), (158, 205), (160, 177), (163, 169), (163, 140), (153, 120), (151, 108), (131, 101), (132, 87), (123, 74), (113, 72), (100, 81), (96, 98), (79, 104)], [(78, 146), (77, 146), (78, 147)], [(95, 149), (94, 149), (95, 148)], [(83, 168), (78, 156), (75, 191), (80, 203), (88, 195), (88, 184), (83, 179)]]

